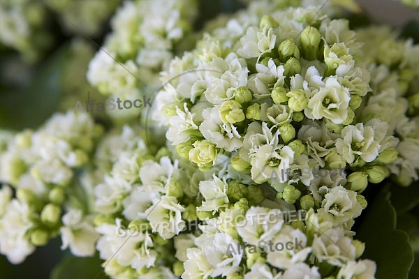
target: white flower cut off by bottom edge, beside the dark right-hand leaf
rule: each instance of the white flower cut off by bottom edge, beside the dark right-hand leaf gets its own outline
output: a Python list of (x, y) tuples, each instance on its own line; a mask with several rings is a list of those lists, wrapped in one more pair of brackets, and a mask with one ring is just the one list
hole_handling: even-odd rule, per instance
[(349, 261), (339, 269), (337, 279), (375, 279), (376, 263), (370, 259), (362, 259), (358, 262)]

